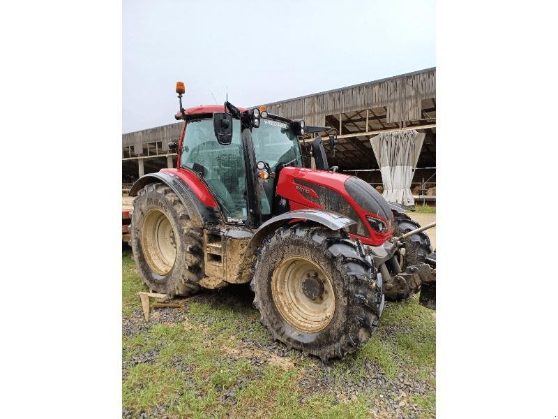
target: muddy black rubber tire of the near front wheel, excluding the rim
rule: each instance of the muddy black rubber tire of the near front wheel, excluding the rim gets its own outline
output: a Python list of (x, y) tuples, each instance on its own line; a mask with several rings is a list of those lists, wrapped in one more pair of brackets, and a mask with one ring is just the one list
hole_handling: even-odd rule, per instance
[[(269, 294), (269, 286), (265, 283), (271, 281), (273, 259), (277, 260), (273, 253), (287, 245), (299, 249), (299, 254), (306, 257), (315, 254), (313, 251), (332, 260), (335, 277), (342, 281), (345, 290), (343, 295), (336, 292), (336, 299), (342, 299), (345, 304), (345, 324), (333, 327), (330, 323), (326, 329), (315, 335), (324, 333), (331, 335), (330, 337), (335, 336), (336, 339), (316, 339), (317, 344), (303, 344), (294, 338), (292, 330), (288, 330), (288, 325), (285, 327), (285, 321), (278, 314)], [(309, 251), (307, 247), (313, 249)], [(294, 256), (293, 253), (285, 254)], [(320, 266), (325, 269), (323, 265)], [(345, 232), (304, 222), (282, 226), (264, 239), (262, 247), (257, 251), (253, 269), (255, 275), (250, 282), (250, 288), (255, 292), (254, 307), (259, 309), (260, 320), (271, 331), (273, 339), (282, 341), (289, 348), (316, 355), (327, 362), (331, 358), (342, 358), (348, 353), (358, 351), (377, 329), (384, 305), (381, 286), (377, 286), (377, 271), (372, 258), (366, 260), (365, 256), (359, 253), (356, 242), (349, 240)], [(334, 314), (334, 318), (335, 316)]]

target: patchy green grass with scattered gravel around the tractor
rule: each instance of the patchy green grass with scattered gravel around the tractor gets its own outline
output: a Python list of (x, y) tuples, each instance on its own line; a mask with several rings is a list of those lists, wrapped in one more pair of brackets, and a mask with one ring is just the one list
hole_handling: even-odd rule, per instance
[[(376, 334), (344, 360), (323, 365), (290, 351), (277, 363), (258, 349), (271, 337), (250, 295), (241, 295), (244, 288), (231, 288), (232, 302), (202, 293), (188, 300), (181, 320), (144, 325), (136, 293), (146, 287), (130, 253), (123, 254), (122, 267), (123, 320), (137, 325), (122, 340), (123, 408), (133, 417), (146, 411), (169, 418), (368, 418), (372, 409), (380, 409), (377, 417), (391, 417), (378, 404), (381, 390), (374, 385), (356, 397), (345, 395), (347, 383), (368, 378), (370, 365), (389, 382), (428, 383), (426, 394), (409, 395), (419, 412), (406, 417), (435, 414), (435, 315), (416, 297), (386, 304)], [(325, 377), (319, 381), (327, 385), (314, 388)], [(301, 385), (304, 379), (310, 388)]]

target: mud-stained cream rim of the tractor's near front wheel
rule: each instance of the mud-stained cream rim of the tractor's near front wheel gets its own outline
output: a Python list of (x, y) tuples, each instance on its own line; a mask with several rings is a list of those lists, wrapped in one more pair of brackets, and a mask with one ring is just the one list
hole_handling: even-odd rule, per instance
[(319, 332), (333, 318), (331, 279), (308, 259), (282, 260), (271, 277), (271, 294), (281, 316), (301, 332)]

